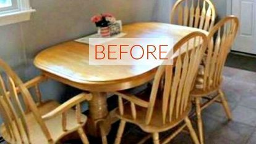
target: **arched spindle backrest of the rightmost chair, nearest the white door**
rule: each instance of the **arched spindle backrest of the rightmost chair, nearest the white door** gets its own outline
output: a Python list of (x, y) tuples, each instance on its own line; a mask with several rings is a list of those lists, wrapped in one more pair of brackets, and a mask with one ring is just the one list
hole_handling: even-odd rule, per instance
[(218, 87), (221, 84), (224, 63), (236, 37), (239, 27), (237, 17), (223, 18), (210, 31), (209, 44), (203, 60), (203, 90)]

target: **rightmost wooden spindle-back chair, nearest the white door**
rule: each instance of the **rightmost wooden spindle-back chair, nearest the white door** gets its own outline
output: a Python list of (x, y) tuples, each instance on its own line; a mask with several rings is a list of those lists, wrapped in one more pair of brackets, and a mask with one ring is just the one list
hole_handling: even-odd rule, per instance
[[(203, 124), (201, 118), (201, 111), (203, 109), (213, 102), (219, 102), (223, 105), (228, 119), (232, 119), (228, 103), (221, 90), (221, 82), (223, 80), (222, 71), (224, 63), (237, 34), (238, 27), (239, 20), (231, 15), (218, 22), (208, 35), (209, 44), (198, 71), (194, 90), (192, 91), (192, 97), (195, 99), (201, 143), (203, 143)], [(215, 97), (209, 96), (215, 92), (218, 92)], [(206, 98), (208, 101), (202, 103), (202, 98)]]

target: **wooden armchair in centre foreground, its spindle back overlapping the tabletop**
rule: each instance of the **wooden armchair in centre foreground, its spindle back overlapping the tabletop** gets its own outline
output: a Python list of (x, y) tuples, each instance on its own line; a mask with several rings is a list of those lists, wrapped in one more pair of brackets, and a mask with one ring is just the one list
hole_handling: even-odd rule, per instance
[[(152, 134), (154, 143), (160, 143), (160, 132), (178, 125), (176, 132), (163, 143), (168, 143), (184, 127), (189, 128), (192, 139), (199, 143), (188, 115), (192, 105), (190, 90), (206, 46), (207, 36), (203, 33), (194, 32), (185, 36), (174, 46), (174, 55), (177, 56), (174, 65), (159, 66), (150, 94), (145, 93), (139, 97), (115, 92), (119, 100), (119, 111), (116, 114), (121, 119), (116, 144), (121, 142), (126, 122), (136, 124)], [(124, 104), (125, 101), (128, 103)]]

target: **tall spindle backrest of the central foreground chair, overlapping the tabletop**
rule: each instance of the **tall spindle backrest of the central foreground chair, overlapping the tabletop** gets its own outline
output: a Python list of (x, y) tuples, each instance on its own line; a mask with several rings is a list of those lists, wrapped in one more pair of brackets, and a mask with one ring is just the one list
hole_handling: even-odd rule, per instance
[[(207, 47), (207, 36), (190, 33), (174, 46), (173, 65), (161, 65), (155, 75), (145, 123), (150, 124), (156, 98), (162, 99), (163, 124), (181, 118), (190, 105), (190, 90)], [(159, 96), (159, 91), (163, 92)], [(159, 100), (159, 99), (158, 99)]]

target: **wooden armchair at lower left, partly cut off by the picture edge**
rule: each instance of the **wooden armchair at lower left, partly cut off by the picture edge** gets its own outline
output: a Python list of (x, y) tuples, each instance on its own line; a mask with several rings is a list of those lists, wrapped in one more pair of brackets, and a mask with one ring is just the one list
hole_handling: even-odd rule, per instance
[[(80, 113), (80, 103), (92, 95), (79, 94), (59, 105), (41, 101), (38, 84), (45, 76), (23, 82), (10, 66), (0, 59), (0, 114), (3, 124), (1, 136), (7, 143), (57, 143), (65, 135), (77, 131), (83, 143), (88, 143), (83, 132), (87, 117)], [(28, 89), (35, 87), (37, 103)], [(76, 106), (76, 110), (72, 107)]]

